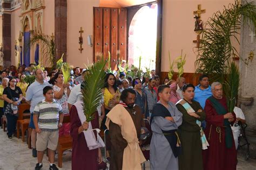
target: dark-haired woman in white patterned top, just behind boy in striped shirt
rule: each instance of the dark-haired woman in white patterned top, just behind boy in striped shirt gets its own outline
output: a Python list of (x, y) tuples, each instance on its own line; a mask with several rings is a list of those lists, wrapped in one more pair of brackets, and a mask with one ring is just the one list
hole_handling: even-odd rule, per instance
[[(54, 98), (56, 102), (62, 106), (62, 112), (64, 116), (68, 116), (69, 115), (68, 98), (71, 92), (70, 84), (64, 83), (64, 76), (60, 72), (56, 73), (53, 79), (55, 80), (55, 85), (52, 87)], [(63, 123), (62, 127), (59, 129), (59, 136), (69, 134), (70, 133), (69, 131), (70, 131), (70, 123)]]

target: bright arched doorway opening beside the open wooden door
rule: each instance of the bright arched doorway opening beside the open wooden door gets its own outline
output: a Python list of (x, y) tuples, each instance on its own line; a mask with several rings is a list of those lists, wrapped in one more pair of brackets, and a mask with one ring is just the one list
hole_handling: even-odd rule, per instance
[(142, 56), (140, 68), (143, 71), (146, 67), (156, 69), (157, 10), (157, 3), (143, 6), (134, 15), (129, 27), (129, 65), (139, 67), (139, 56)]

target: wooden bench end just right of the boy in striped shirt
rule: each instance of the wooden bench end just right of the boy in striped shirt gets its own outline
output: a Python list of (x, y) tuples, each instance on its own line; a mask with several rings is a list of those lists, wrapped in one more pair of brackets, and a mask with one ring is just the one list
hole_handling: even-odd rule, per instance
[[(70, 116), (64, 116), (63, 123), (70, 123)], [(70, 135), (59, 137), (57, 152), (58, 152), (58, 167), (62, 168), (63, 152), (72, 148), (73, 139)]]

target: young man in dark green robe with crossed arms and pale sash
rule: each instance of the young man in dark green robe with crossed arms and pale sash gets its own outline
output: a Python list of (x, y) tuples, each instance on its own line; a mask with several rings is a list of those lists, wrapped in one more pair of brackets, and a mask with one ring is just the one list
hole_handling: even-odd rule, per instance
[[(193, 100), (194, 86), (185, 84), (182, 88), (183, 100), (176, 107), (183, 114), (183, 122), (179, 126), (182, 151), (179, 155), (179, 169), (203, 169), (202, 149), (207, 149), (207, 140), (201, 129), (205, 112), (200, 104)], [(201, 138), (205, 140), (201, 140)]]

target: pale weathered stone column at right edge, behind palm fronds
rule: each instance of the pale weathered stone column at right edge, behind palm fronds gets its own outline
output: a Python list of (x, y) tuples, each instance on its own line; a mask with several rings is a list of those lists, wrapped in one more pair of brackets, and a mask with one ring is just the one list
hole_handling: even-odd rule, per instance
[[(243, 0), (246, 2), (245, 0)], [(247, 2), (254, 2), (256, 0), (249, 0)], [(250, 145), (251, 156), (256, 158), (256, 104), (254, 104), (254, 98), (256, 97), (256, 37), (252, 37), (251, 34), (255, 29), (248, 26), (248, 24), (241, 25), (241, 36), (240, 36), (240, 56), (242, 60), (239, 62), (240, 69), (240, 90), (238, 103), (242, 111), (244, 112), (246, 124), (246, 134)], [(254, 53), (254, 58), (252, 60), (248, 59), (250, 53)]]

